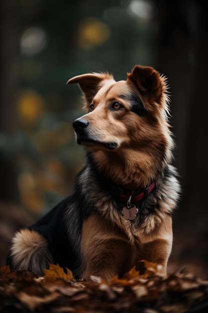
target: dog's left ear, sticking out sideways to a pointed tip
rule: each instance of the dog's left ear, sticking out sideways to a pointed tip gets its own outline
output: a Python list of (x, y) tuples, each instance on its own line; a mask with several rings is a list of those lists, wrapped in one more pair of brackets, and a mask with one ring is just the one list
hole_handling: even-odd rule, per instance
[(78, 83), (84, 93), (87, 104), (90, 104), (95, 94), (104, 84), (102, 82), (106, 79), (113, 79), (113, 76), (108, 73), (89, 73), (72, 77), (67, 83)]

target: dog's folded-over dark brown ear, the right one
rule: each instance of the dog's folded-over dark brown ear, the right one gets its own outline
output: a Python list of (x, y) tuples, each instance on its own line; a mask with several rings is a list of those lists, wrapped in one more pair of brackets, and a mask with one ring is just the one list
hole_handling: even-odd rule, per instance
[(133, 82), (142, 95), (147, 94), (151, 98), (154, 96), (154, 100), (160, 97), (164, 83), (159, 72), (153, 67), (136, 65), (127, 76), (127, 81)]

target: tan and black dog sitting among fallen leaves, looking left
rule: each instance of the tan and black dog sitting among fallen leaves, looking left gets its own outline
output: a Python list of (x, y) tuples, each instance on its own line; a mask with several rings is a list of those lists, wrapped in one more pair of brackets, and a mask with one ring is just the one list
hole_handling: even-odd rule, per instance
[(73, 127), (86, 162), (74, 193), (14, 234), (7, 263), (40, 275), (58, 263), (77, 278), (110, 280), (146, 259), (165, 275), (180, 194), (166, 76), (135, 65), (126, 80), (101, 72), (67, 83), (84, 96)]

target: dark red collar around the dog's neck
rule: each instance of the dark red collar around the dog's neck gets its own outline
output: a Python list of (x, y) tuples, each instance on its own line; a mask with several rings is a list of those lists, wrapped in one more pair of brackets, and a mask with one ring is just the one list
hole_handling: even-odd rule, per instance
[(133, 191), (132, 193), (125, 192), (119, 187), (116, 187), (117, 192), (119, 193), (119, 198), (122, 202), (128, 202), (131, 197), (132, 203), (137, 203), (142, 200), (146, 195), (148, 195), (155, 188), (155, 183), (153, 182), (149, 187), (146, 187), (142, 192)]

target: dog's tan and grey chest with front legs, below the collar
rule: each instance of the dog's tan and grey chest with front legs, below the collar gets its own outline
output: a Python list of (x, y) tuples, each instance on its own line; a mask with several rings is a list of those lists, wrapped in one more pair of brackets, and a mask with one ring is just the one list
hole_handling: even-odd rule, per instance
[(85, 196), (83, 194), (85, 208), (89, 198), (94, 206), (82, 225), (83, 270), (80, 273), (83, 277), (89, 278), (92, 272), (105, 279), (110, 279), (114, 273), (122, 276), (136, 264), (139, 266), (138, 260), (142, 259), (165, 262), (172, 248), (170, 213), (178, 191), (174, 168), (169, 167), (167, 171), (170, 175), (158, 179), (157, 187), (148, 198), (142, 204), (138, 203), (139, 212), (132, 221), (124, 218), (122, 204), (116, 202), (109, 190), (102, 188), (95, 172), (89, 167), (82, 172), (78, 182), (84, 179), (87, 185)]

